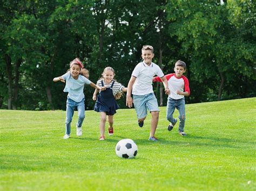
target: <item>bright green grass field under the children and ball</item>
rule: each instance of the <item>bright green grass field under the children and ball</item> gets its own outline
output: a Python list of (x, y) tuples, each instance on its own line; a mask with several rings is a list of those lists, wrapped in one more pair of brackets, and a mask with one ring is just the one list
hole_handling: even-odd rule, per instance
[[(186, 105), (186, 137), (167, 131), (160, 108), (150, 142), (134, 109), (114, 116), (114, 136), (100, 142), (99, 114), (85, 112), (83, 136), (64, 140), (65, 111), (0, 110), (0, 190), (255, 190), (256, 98)], [(174, 113), (178, 116), (178, 112)], [(134, 159), (115, 153), (120, 139)]]

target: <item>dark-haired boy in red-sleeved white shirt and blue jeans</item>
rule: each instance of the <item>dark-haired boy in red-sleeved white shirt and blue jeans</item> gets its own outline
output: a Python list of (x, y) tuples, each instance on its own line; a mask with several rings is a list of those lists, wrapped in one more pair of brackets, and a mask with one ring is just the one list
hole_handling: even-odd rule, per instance
[[(175, 108), (179, 111), (179, 135), (186, 136), (184, 132), (185, 126), (185, 97), (190, 96), (190, 87), (188, 79), (183, 75), (186, 72), (186, 63), (178, 60), (175, 63), (173, 74), (165, 75), (171, 94), (167, 100), (166, 118), (170, 122), (168, 130), (171, 131), (177, 123), (177, 119), (173, 118)], [(153, 82), (161, 82), (160, 77), (154, 77)]]

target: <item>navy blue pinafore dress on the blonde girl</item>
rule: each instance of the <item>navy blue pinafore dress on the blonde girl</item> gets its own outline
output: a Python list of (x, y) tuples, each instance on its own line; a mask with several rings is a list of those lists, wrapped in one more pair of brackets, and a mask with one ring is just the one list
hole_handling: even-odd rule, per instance
[[(114, 115), (116, 114), (116, 110), (119, 109), (119, 105), (117, 104), (116, 99), (113, 96), (113, 88), (114, 81), (111, 84), (110, 88), (106, 88), (104, 91), (100, 91), (97, 101), (95, 103), (94, 110), (97, 112), (106, 112), (106, 115)], [(102, 81), (102, 87), (104, 83)]]

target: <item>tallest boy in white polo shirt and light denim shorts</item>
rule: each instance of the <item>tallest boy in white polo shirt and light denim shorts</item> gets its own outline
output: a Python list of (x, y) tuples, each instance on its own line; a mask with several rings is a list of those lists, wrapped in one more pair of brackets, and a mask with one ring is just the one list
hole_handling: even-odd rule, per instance
[[(138, 125), (142, 128), (147, 116), (147, 110), (151, 112), (151, 131), (149, 140), (157, 142), (154, 137), (159, 119), (159, 108), (157, 98), (154, 95), (152, 80), (155, 75), (159, 76), (165, 87), (165, 94), (170, 94), (167, 80), (161, 68), (152, 62), (154, 58), (153, 47), (145, 45), (142, 48), (143, 62), (138, 63), (132, 72), (127, 86), (126, 105), (131, 108), (132, 103), (138, 117)], [(133, 99), (131, 97), (133, 94)]]

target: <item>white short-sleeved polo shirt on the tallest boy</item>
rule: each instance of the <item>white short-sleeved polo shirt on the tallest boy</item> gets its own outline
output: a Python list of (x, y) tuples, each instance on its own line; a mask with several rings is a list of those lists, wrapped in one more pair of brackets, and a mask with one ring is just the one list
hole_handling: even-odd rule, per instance
[(132, 72), (132, 76), (136, 77), (132, 86), (132, 94), (146, 95), (153, 93), (152, 79), (155, 75), (164, 77), (163, 71), (156, 63), (151, 62), (150, 66), (145, 62), (138, 63)]

